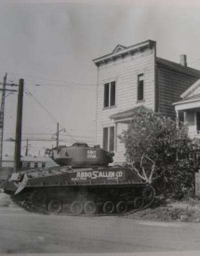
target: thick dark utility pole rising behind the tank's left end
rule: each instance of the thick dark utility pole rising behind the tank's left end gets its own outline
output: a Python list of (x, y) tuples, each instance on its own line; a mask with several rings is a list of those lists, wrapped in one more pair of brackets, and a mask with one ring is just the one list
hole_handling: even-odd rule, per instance
[(16, 172), (21, 167), (23, 94), (24, 94), (24, 79), (20, 79), (19, 91), (18, 91), (18, 102), (17, 102), (14, 172)]

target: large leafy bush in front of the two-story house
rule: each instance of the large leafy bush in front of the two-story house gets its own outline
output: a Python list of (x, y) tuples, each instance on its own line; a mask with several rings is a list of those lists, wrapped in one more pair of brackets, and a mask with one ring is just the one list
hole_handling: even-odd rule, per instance
[(127, 161), (160, 192), (179, 193), (194, 186), (194, 168), (187, 156), (196, 145), (182, 122), (177, 126), (161, 113), (138, 112), (119, 138), (125, 144)]

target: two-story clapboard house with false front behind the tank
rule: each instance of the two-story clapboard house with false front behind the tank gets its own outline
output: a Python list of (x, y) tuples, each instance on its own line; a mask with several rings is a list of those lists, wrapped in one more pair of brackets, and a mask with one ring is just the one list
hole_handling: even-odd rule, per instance
[(173, 102), (200, 78), (200, 71), (156, 56), (156, 42), (147, 40), (129, 47), (117, 45), (97, 66), (96, 143), (125, 161), (118, 135), (127, 129), (132, 113), (141, 105), (175, 118)]

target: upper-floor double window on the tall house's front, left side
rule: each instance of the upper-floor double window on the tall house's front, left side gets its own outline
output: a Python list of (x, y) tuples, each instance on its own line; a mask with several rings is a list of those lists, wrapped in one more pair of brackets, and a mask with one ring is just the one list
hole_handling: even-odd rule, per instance
[(104, 108), (115, 106), (115, 81), (104, 84)]

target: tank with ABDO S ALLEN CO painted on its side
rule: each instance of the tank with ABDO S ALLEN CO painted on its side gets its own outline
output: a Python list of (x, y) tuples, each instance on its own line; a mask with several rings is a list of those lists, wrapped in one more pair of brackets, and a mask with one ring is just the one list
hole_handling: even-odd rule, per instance
[(154, 188), (129, 166), (108, 166), (113, 153), (76, 143), (54, 148), (61, 166), (24, 170), (2, 182), (5, 193), (21, 205), (50, 213), (124, 214), (152, 204)]

